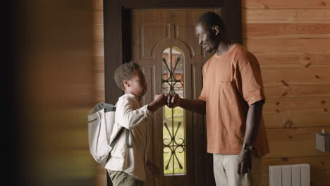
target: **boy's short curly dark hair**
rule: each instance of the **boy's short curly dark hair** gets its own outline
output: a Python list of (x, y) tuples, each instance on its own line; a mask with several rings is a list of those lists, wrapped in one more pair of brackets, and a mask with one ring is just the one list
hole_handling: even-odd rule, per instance
[(140, 69), (140, 66), (133, 61), (130, 61), (129, 63), (123, 63), (121, 66), (116, 68), (114, 73), (114, 80), (116, 81), (117, 86), (120, 89), (125, 90), (123, 80), (130, 80), (133, 75), (133, 71), (138, 69)]

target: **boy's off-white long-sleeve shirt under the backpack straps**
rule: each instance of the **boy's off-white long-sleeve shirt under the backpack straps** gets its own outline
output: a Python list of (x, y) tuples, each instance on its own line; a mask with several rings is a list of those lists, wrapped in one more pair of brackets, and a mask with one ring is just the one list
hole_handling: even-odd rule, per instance
[[(124, 171), (133, 178), (146, 180), (145, 163), (149, 144), (148, 125), (152, 119), (152, 112), (147, 105), (141, 106), (138, 97), (133, 94), (124, 94), (118, 99), (113, 131), (118, 131), (122, 126), (130, 130), (130, 148), (126, 145), (126, 130), (114, 149), (105, 168), (111, 171)], [(116, 132), (111, 135), (114, 139)]]

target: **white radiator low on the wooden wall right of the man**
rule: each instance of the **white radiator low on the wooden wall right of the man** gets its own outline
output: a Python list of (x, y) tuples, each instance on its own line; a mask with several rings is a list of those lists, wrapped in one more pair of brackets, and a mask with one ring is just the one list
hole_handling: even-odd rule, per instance
[(269, 186), (310, 186), (310, 165), (269, 166)]

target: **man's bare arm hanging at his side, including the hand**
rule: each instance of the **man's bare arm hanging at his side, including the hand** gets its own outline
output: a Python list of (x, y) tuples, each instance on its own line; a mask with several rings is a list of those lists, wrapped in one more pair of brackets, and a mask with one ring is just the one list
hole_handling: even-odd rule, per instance
[[(246, 118), (246, 129), (244, 135), (243, 144), (252, 144), (255, 140), (255, 136), (259, 130), (259, 125), (262, 117), (262, 106), (264, 100), (257, 101), (249, 106)], [(251, 151), (245, 151), (242, 148), (240, 154), (238, 154), (238, 174), (247, 173), (251, 169)]]

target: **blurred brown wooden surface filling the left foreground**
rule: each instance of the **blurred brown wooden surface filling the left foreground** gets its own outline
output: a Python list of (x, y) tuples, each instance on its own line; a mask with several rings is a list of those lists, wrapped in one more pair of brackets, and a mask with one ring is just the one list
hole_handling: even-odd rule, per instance
[(11, 58), (2, 66), (8, 120), (1, 128), (1, 143), (11, 147), (3, 161), (9, 185), (94, 185), (87, 131), (94, 89), (90, 2), (2, 6), (11, 13), (5, 39)]

